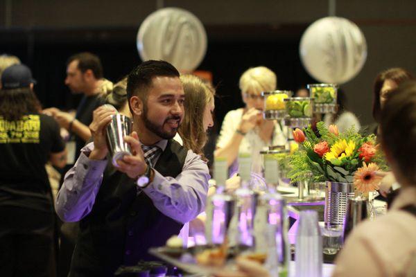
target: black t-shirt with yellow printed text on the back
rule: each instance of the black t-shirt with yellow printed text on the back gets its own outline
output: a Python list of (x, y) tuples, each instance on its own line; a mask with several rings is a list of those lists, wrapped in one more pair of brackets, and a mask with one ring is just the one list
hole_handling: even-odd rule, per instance
[(49, 154), (63, 150), (60, 127), (50, 116), (13, 121), (0, 116), (0, 206), (51, 211), (45, 164)]

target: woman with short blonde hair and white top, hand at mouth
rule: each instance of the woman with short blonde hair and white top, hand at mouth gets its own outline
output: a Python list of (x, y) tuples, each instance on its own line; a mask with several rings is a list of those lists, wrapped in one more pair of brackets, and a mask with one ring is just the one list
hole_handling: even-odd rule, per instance
[(259, 152), (268, 145), (286, 143), (286, 127), (263, 119), (261, 92), (275, 90), (276, 86), (276, 74), (265, 66), (248, 69), (241, 75), (240, 89), (245, 107), (227, 113), (214, 152), (215, 157), (227, 157), (230, 175), (238, 170), (239, 154), (251, 154), (252, 172), (260, 173)]

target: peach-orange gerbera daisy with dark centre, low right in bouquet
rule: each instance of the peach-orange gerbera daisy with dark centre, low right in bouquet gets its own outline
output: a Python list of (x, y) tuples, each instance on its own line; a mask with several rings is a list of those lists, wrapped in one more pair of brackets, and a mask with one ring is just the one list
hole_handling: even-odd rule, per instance
[(363, 162), (363, 166), (358, 168), (354, 174), (354, 186), (361, 193), (369, 193), (372, 190), (379, 189), (381, 181), (380, 176), (376, 175), (379, 167), (375, 163), (369, 163), (368, 166)]

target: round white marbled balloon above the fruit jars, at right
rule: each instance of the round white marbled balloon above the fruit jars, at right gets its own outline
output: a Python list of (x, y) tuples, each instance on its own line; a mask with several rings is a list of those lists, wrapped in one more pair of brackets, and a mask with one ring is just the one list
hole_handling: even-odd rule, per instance
[(342, 84), (354, 78), (367, 58), (360, 28), (342, 17), (324, 17), (309, 26), (300, 39), (300, 59), (320, 82)]

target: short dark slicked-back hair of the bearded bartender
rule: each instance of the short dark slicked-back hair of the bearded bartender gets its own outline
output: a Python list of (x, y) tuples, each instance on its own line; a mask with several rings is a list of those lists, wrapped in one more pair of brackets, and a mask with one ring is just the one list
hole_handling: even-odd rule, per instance
[(175, 69), (175, 66), (162, 60), (148, 60), (133, 69), (127, 79), (127, 98), (129, 105), (132, 96), (139, 96), (145, 102), (148, 89), (152, 86), (152, 79), (158, 76), (179, 78), (180, 74)]

